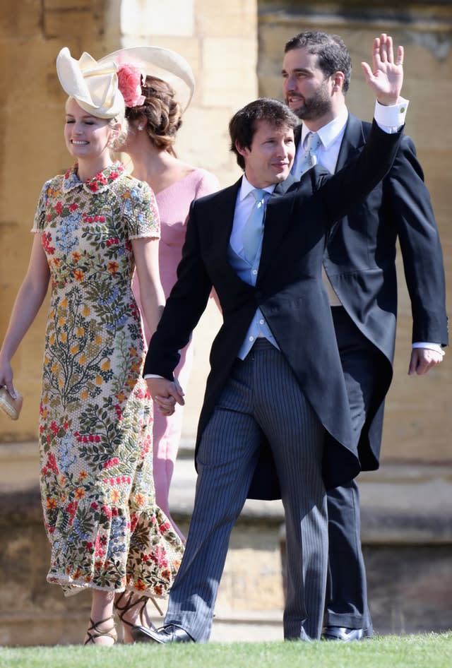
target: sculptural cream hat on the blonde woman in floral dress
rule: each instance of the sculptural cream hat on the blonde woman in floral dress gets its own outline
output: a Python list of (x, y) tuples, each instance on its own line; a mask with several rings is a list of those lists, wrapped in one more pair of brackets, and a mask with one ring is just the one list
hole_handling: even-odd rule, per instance
[(101, 119), (124, 114), (117, 70), (114, 60), (104, 59), (100, 63), (86, 52), (76, 60), (68, 47), (57, 56), (57, 74), (63, 89), (85, 112)]

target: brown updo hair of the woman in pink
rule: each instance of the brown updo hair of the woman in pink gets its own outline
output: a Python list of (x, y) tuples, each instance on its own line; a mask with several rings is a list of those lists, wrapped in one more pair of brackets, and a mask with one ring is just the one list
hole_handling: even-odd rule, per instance
[(134, 121), (145, 117), (146, 131), (153, 145), (177, 157), (174, 142), (182, 126), (182, 109), (174, 100), (173, 88), (156, 76), (146, 76), (141, 94), (145, 96), (143, 105), (126, 107), (126, 119)]

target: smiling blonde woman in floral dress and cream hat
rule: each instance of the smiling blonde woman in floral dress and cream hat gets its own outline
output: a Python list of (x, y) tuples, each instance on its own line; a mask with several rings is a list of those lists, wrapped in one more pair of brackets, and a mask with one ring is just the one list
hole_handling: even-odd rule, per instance
[[(182, 542), (155, 505), (152, 402), (141, 377), (143, 333), (131, 278), (154, 330), (164, 303), (158, 275), (160, 223), (147, 184), (113, 162), (124, 100), (116, 66), (57, 59), (66, 103), (64, 137), (77, 162), (44, 184), (30, 265), (0, 351), (0, 385), (13, 393), (11, 357), (51, 284), (40, 402), (41, 493), (52, 547), (47, 580), (66, 594), (90, 588), (85, 643), (124, 640), (141, 596), (164, 597)], [(162, 404), (172, 412), (172, 406)], [(125, 590), (129, 605), (119, 601)], [(143, 616), (140, 621), (143, 621)]]

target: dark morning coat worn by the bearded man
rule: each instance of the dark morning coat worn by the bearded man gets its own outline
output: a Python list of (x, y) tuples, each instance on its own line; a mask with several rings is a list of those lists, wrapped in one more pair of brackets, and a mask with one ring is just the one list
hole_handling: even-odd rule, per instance
[[(349, 114), (336, 170), (359, 155), (370, 130), (370, 123)], [(299, 126), (296, 143), (301, 131)], [(386, 177), (330, 229), (323, 256), (326, 273), (341, 304), (381, 353), (367, 421), (357, 443), (362, 470), (379, 467), (384, 398), (393, 377), (397, 241), (410, 295), (412, 342), (447, 345), (441, 242), (422, 167), (407, 135), (402, 137)]]

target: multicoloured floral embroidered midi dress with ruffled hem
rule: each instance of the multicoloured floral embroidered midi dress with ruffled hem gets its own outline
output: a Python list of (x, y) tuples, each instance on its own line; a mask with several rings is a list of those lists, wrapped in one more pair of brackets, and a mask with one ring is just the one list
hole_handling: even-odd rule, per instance
[(76, 166), (44, 184), (42, 235), (52, 294), (40, 403), (47, 580), (165, 596), (183, 547), (155, 506), (152, 400), (131, 292), (131, 239), (159, 237), (147, 184), (120, 162), (90, 181)]

